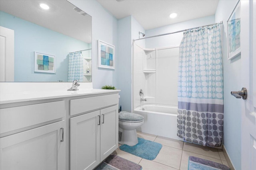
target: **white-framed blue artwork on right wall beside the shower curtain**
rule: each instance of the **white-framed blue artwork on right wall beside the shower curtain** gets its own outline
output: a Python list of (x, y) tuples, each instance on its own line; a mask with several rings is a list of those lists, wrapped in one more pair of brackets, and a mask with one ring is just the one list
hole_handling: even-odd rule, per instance
[(240, 47), (240, 0), (228, 18), (228, 60), (241, 54)]

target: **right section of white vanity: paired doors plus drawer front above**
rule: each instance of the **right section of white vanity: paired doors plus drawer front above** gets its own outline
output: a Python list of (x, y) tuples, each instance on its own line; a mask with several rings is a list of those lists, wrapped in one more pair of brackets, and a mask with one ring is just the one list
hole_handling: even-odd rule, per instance
[(70, 114), (101, 107), (106, 108), (70, 118), (71, 170), (92, 170), (118, 148), (118, 94), (71, 100)]

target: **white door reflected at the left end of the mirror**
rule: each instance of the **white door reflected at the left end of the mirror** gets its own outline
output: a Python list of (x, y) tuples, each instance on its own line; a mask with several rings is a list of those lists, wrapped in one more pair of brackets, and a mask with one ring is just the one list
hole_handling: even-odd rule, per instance
[(14, 82), (14, 30), (1, 26), (0, 82)]

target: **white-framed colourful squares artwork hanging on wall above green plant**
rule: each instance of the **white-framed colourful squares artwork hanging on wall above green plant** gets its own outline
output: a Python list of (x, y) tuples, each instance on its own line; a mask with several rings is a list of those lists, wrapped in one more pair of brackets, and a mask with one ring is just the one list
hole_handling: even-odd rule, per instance
[(98, 67), (115, 69), (115, 46), (98, 40)]

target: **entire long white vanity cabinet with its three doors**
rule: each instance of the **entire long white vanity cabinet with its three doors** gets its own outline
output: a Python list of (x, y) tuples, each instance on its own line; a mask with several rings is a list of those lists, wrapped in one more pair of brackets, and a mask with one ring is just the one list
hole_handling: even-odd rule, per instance
[(114, 152), (120, 90), (88, 91), (1, 96), (0, 170), (92, 170)]

